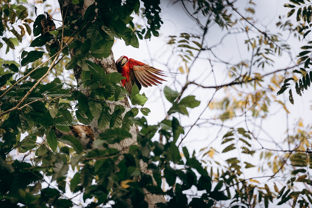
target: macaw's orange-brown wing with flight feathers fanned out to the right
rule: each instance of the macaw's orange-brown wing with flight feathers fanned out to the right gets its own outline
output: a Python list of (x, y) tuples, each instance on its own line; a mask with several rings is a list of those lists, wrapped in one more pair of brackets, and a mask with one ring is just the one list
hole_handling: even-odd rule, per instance
[(163, 74), (163, 71), (151, 67), (147, 64), (142, 66), (133, 65), (131, 72), (134, 73), (134, 77), (139, 81), (143, 87), (161, 84), (160, 81), (166, 81), (158, 76), (167, 77)]

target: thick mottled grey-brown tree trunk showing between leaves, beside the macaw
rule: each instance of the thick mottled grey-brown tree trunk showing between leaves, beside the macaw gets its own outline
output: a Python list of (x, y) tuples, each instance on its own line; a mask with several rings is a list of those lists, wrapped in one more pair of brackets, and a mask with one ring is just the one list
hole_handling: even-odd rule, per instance
[[(91, 0), (85, 0), (84, 5), (83, 5), (83, 9), (81, 9), (80, 7), (73, 4), (71, 2), (71, 0), (58, 0), (58, 2), (60, 4), (62, 16), (65, 15), (66, 13), (67, 13), (67, 16), (77, 15), (77, 14), (83, 15), (85, 12), (85, 9), (93, 3), (93, 1), (91, 1)], [(62, 18), (64, 18), (64, 17), (62, 17)], [(113, 51), (111, 50), (110, 52), (111, 52), (110, 56), (105, 58), (105, 59), (102, 59), (102, 60), (96, 59), (96, 58), (90, 59), (90, 61), (100, 65), (106, 74), (111, 73), (111, 72), (117, 72)], [(76, 81), (79, 84), (81, 82), (81, 69), (79, 66), (74, 67), (74, 74), (76, 77)], [(80, 90), (84, 90), (82, 92), (84, 92), (86, 97), (89, 96), (88, 91), (85, 90), (82, 85), (80, 85)], [(110, 105), (110, 102), (107, 101), (107, 104)], [(116, 104), (126, 107), (126, 110), (122, 115), (122, 117), (124, 117), (124, 114), (127, 111), (129, 111), (129, 109), (130, 109), (128, 99), (125, 97), (124, 99), (119, 100), (118, 102), (114, 102), (114, 106)], [(111, 107), (111, 109), (112, 109), (112, 113), (113, 113), (114, 107)], [(92, 137), (92, 135), (90, 135), (90, 128), (92, 129), (94, 137)], [(133, 125), (132, 128), (129, 130), (129, 133), (132, 135), (132, 138), (124, 139), (124, 140), (120, 141), (119, 143), (115, 143), (115, 144), (110, 145), (110, 147), (116, 148), (121, 152), (128, 152), (129, 147), (131, 145), (137, 144), (136, 137), (137, 137), (138, 131), (139, 131), (138, 126)], [(62, 132), (60, 132), (60, 133), (62, 133)], [(92, 142), (94, 141), (94, 138), (96, 138), (101, 133), (101, 131), (99, 130), (97, 119), (94, 118), (90, 123), (90, 127), (88, 127), (88, 126), (72, 127), (71, 133), (74, 136), (76, 136), (76, 138), (80, 139), (81, 143), (85, 146), (86, 149), (90, 149), (90, 148), (92, 148), (92, 145), (93, 145)], [(97, 147), (97, 148), (100, 148), (100, 147)], [(119, 162), (121, 159), (122, 158), (119, 158), (119, 160), (117, 160), (117, 162)], [(140, 161), (140, 167), (141, 167), (142, 172), (152, 176), (152, 178), (153, 178), (153, 173), (152, 173), (152, 171), (147, 169), (146, 163), (144, 163), (143, 161)], [(156, 182), (155, 182), (154, 178), (153, 178), (153, 182), (155, 185)], [(157, 207), (155, 205), (156, 203), (165, 203), (166, 202), (163, 195), (150, 194), (147, 190), (144, 190), (144, 192), (146, 194), (145, 201), (149, 204), (150, 208)], [(129, 203), (129, 207), (132, 207), (131, 202)]]

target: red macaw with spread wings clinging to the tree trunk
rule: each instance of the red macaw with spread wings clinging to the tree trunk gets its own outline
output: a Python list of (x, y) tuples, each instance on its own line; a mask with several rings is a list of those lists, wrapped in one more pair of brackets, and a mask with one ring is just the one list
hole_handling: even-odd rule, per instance
[[(121, 56), (116, 61), (117, 70), (126, 79), (121, 80), (122, 86), (131, 95), (131, 88), (134, 83), (139, 87), (139, 90), (143, 87), (148, 87), (152, 85), (162, 84), (159, 81), (166, 81), (158, 76), (163, 76), (163, 71), (151, 67), (145, 63), (136, 61), (132, 58), (126, 56)], [(156, 76), (157, 75), (157, 76)]]

